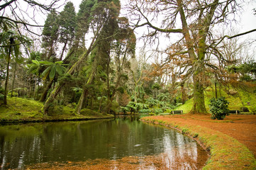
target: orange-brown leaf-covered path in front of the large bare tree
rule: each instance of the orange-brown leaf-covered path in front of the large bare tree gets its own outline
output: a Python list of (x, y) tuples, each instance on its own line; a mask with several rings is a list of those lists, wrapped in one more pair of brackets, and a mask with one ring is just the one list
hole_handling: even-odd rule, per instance
[(256, 115), (228, 115), (224, 120), (211, 120), (209, 115), (171, 115), (166, 118), (223, 132), (247, 146), (256, 157)]

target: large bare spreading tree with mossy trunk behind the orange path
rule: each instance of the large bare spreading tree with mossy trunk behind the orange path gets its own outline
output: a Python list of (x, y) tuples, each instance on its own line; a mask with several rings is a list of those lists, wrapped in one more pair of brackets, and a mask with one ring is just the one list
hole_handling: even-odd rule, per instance
[[(130, 13), (135, 28), (147, 26), (148, 36), (165, 33), (179, 35), (173, 45), (179, 50), (170, 50), (169, 56), (186, 57), (186, 72), (194, 81), (194, 106), (191, 113), (206, 113), (204, 84), (206, 68), (214, 67), (206, 54), (216, 50), (213, 28), (219, 23), (228, 23), (228, 16), (239, 7), (234, 0), (171, 0), (130, 1)], [(172, 44), (169, 46), (172, 47)], [(177, 48), (176, 48), (177, 49)], [(212, 55), (214, 53), (212, 52)]]

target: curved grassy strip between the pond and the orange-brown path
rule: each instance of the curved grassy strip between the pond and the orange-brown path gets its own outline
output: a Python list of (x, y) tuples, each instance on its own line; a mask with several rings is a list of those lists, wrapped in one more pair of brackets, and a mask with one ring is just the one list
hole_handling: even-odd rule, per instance
[(233, 137), (199, 125), (188, 124), (186, 120), (177, 122), (164, 116), (145, 117), (141, 120), (176, 128), (198, 140), (211, 154), (203, 169), (256, 169), (256, 159), (252, 152)]

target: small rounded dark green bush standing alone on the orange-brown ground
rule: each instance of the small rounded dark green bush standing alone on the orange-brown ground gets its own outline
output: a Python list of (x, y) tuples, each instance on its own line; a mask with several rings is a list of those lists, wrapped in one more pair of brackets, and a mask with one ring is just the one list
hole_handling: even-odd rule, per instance
[(211, 119), (223, 120), (228, 115), (228, 101), (225, 97), (211, 98), (210, 100)]

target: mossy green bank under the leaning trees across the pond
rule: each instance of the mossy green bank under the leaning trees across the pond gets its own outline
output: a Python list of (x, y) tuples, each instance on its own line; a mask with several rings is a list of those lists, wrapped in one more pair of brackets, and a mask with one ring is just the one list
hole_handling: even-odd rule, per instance
[(113, 115), (103, 115), (89, 109), (82, 110), (81, 115), (74, 115), (73, 106), (55, 106), (48, 116), (40, 112), (43, 103), (25, 98), (8, 98), (7, 106), (0, 106), (0, 123), (22, 123), (61, 120), (92, 120), (113, 118)]

